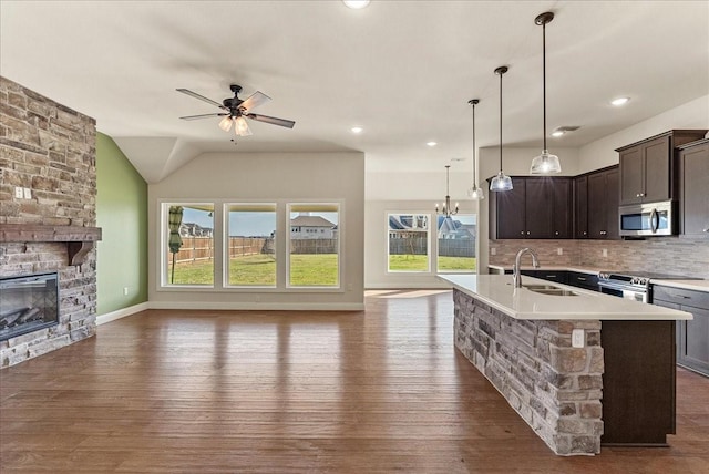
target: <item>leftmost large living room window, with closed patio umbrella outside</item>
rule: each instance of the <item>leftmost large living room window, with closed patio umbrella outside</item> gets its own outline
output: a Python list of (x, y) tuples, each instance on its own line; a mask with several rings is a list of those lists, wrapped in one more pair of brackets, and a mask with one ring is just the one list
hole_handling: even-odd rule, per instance
[(166, 278), (168, 285), (214, 285), (214, 205), (167, 204)]

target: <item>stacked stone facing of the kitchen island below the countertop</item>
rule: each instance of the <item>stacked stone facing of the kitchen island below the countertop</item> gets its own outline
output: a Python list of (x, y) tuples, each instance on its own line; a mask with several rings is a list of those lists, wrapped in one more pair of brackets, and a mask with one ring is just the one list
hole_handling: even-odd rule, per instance
[[(600, 452), (600, 321), (520, 320), (454, 290), (455, 347), (561, 455)], [(584, 348), (572, 347), (583, 329)]]

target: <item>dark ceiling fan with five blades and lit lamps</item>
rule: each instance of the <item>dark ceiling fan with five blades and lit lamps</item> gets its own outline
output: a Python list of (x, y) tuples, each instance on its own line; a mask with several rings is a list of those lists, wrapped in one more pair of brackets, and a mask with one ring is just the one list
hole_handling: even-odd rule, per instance
[(207, 99), (204, 95), (199, 95), (196, 92), (192, 92), (188, 89), (177, 89), (177, 92), (182, 92), (183, 94), (187, 94), (195, 99), (199, 99), (201, 101), (207, 102), (212, 105), (216, 105), (225, 112), (218, 112), (214, 114), (201, 114), (201, 115), (187, 115), (184, 117), (179, 117), (182, 120), (197, 120), (197, 118), (208, 118), (208, 117), (224, 117), (219, 122), (219, 128), (225, 132), (228, 132), (232, 128), (232, 123), (234, 123), (234, 132), (238, 136), (247, 136), (251, 135), (251, 131), (246, 123), (244, 117), (255, 120), (257, 122), (270, 123), (273, 125), (285, 126), (288, 128), (292, 128), (296, 124), (291, 120), (277, 118), (268, 115), (253, 114), (250, 111), (256, 109), (257, 106), (270, 101), (270, 97), (263, 92), (255, 92), (249, 95), (246, 100), (242, 100), (238, 97), (239, 92), (242, 92), (242, 86), (237, 84), (232, 84), (229, 86), (232, 92), (234, 92), (234, 97), (227, 97), (219, 104), (212, 99)]

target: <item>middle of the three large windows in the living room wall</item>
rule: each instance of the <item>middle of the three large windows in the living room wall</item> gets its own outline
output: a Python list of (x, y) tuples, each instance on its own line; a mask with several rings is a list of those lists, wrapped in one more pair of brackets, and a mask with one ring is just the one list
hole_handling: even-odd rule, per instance
[(227, 204), (225, 281), (276, 286), (276, 204)]

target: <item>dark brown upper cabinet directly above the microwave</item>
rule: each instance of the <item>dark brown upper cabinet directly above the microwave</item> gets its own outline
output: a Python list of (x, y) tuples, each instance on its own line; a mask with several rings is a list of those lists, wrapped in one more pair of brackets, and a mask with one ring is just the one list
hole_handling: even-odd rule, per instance
[(672, 130), (617, 148), (620, 205), (677, 199), (675, 147), (702, 138), (706, 130)]

